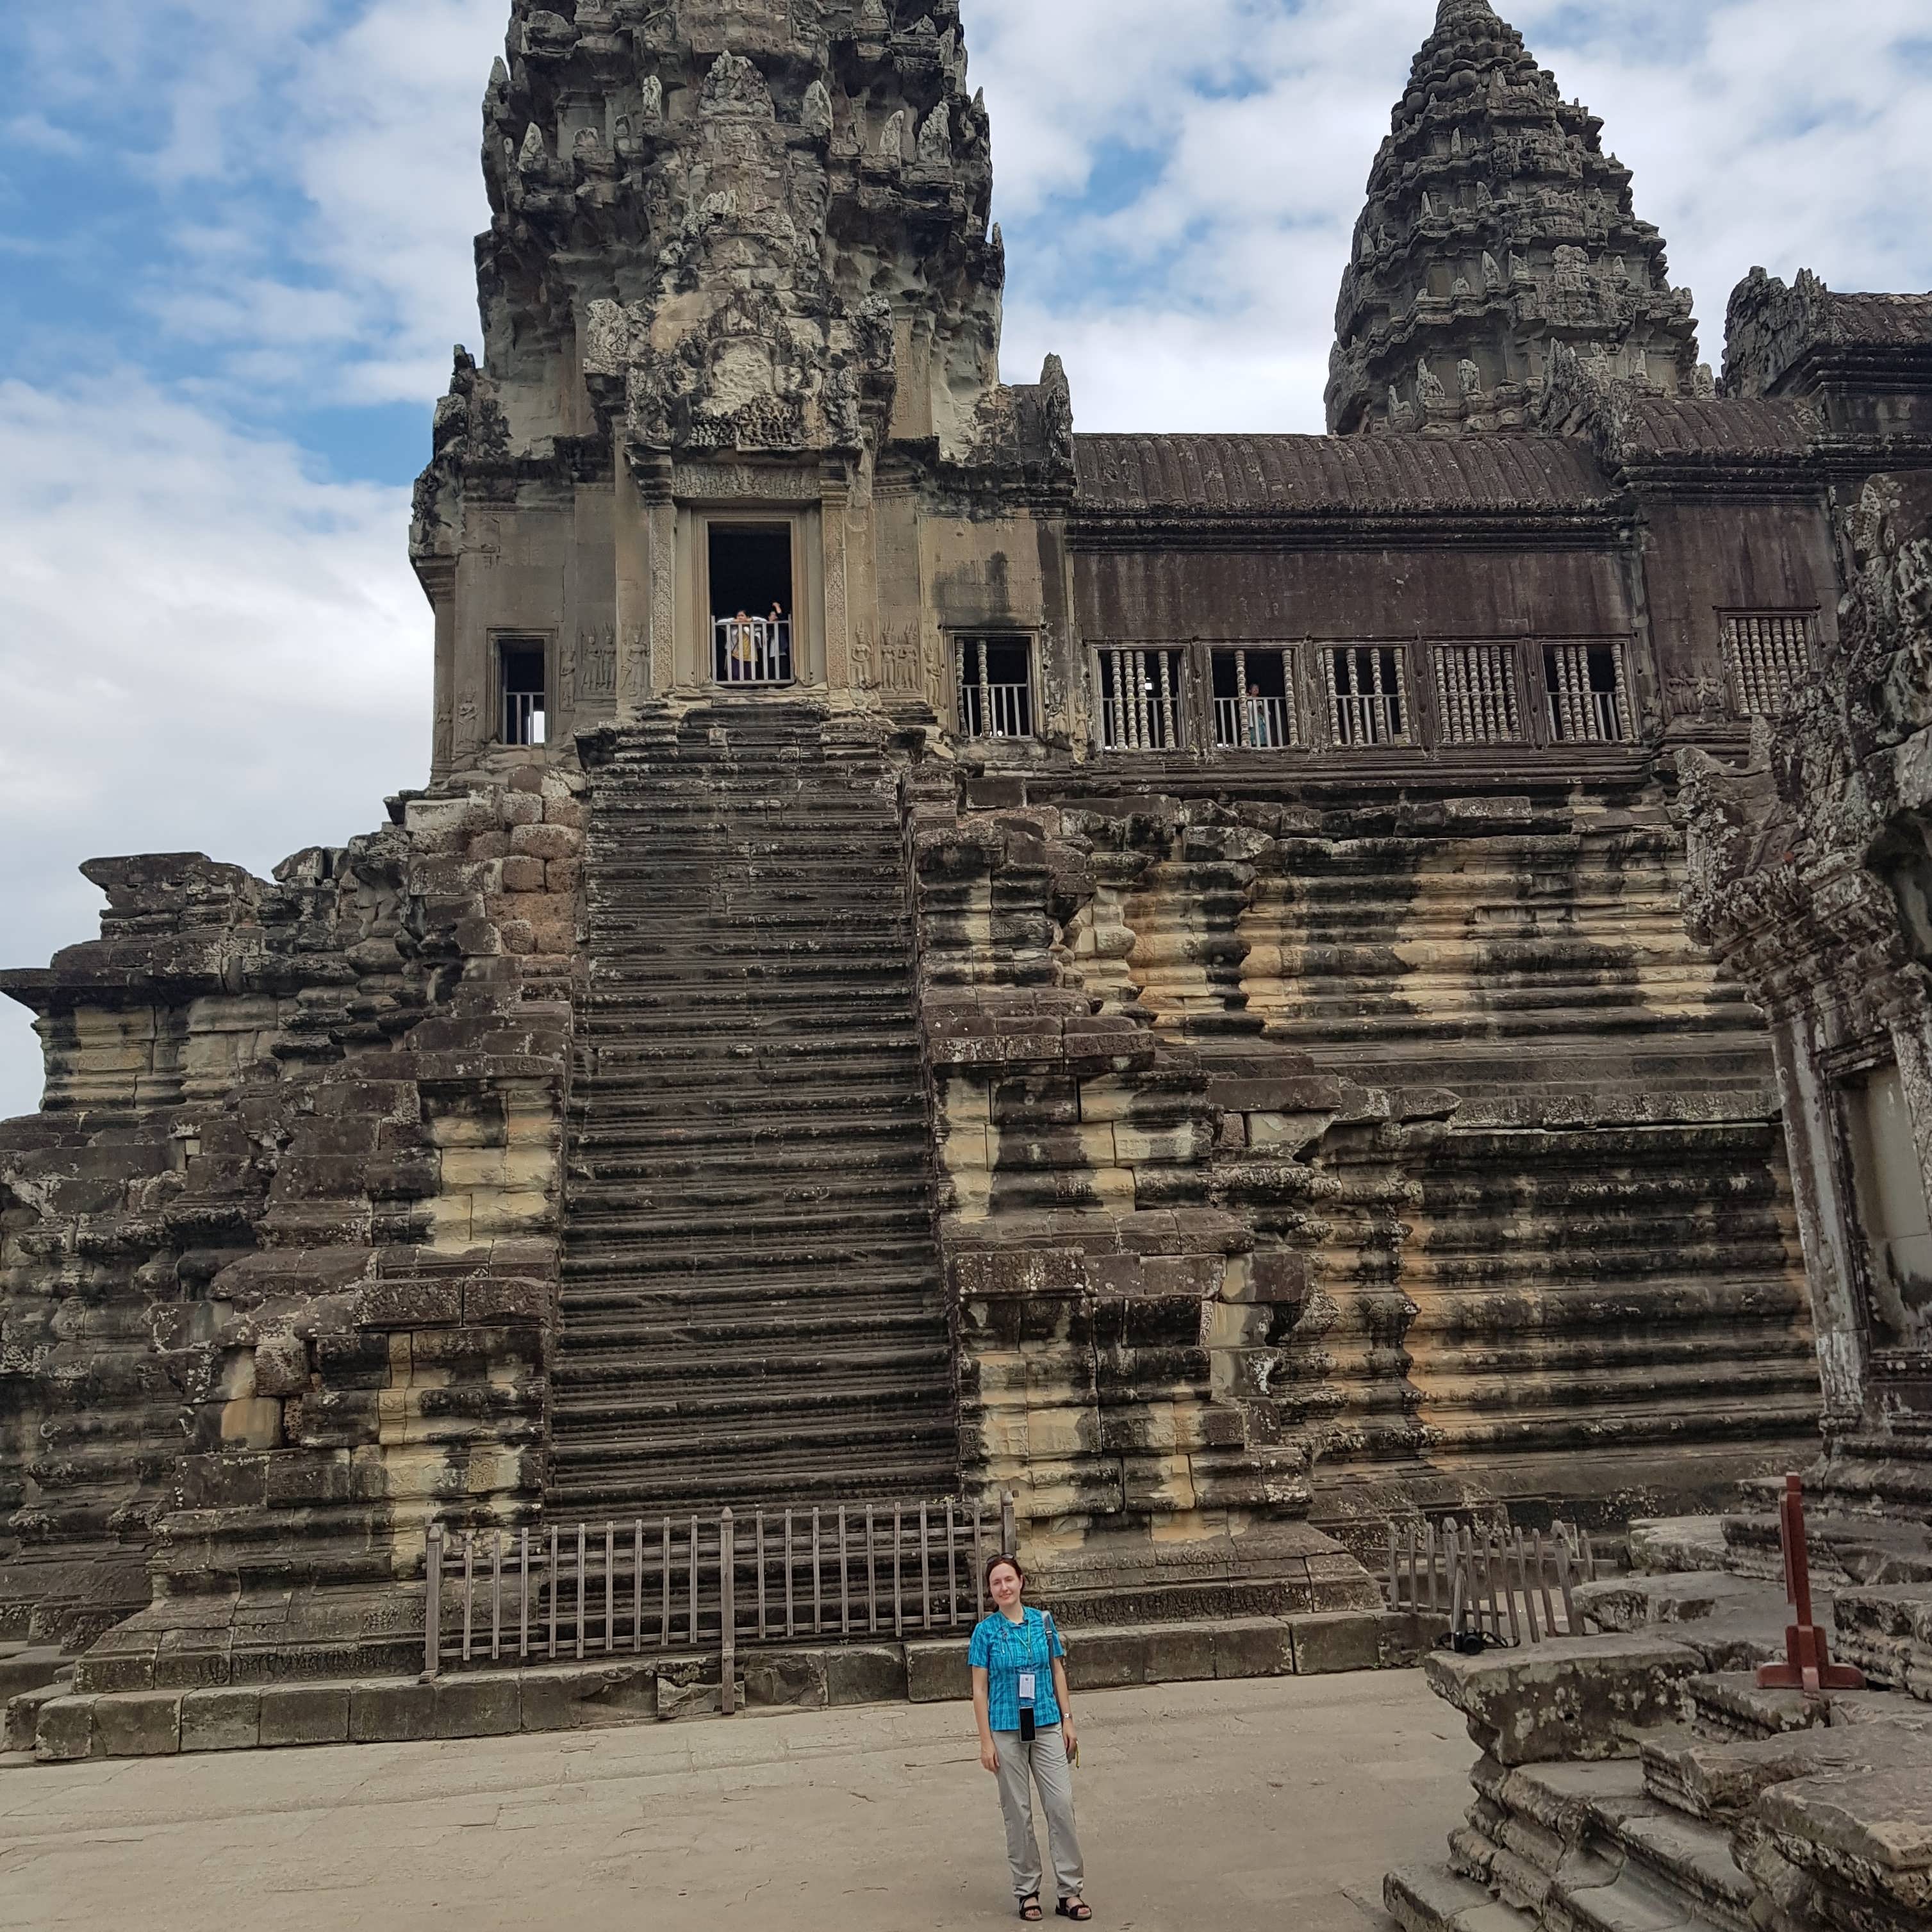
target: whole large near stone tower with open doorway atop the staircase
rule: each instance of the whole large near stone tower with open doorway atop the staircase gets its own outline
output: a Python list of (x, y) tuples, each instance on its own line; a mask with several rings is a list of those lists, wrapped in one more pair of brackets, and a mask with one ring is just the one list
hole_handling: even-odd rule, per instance
[[(485, 354), (458, 354), (413, 535), (437, 769), (740, 668), (935, 697), (943, 639), (873, 589), (881, 547), (920, 583), (910, 500), (1072, 479), (1059, 365), (999, 383), (956, 0), (516, 0), (483, 118)], [(784, 630), (721, 670), (740, 607)]]

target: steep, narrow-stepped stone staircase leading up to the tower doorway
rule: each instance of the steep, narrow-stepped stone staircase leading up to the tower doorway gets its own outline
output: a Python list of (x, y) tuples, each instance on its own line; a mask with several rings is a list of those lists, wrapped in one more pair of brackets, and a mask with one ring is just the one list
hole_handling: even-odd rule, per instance
[(896, 773), (804, 707), (593, 775), (554, 1515), (958, 1486)]

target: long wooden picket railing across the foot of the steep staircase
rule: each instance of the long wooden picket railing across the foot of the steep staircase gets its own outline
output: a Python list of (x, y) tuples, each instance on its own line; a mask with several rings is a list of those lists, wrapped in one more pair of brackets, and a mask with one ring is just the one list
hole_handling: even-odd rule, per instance
[(978, 1623), (985, 1563), (1012, 1536), (1010, 1495), (518, 1530), (431, 1522), (423, 1671), (715, 1654), (730, 1708), (742, 1646)]

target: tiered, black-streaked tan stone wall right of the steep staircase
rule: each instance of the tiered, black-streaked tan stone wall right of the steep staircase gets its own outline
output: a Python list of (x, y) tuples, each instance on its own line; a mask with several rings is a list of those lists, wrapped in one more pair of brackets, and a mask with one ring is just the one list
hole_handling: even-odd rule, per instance
[(1658, 796), (1061, 788), (920, 852), (987, 1480), (1074, 1542), (1366, 1540), (1706, 1503), (1812, 1432), (1770, 1066)]

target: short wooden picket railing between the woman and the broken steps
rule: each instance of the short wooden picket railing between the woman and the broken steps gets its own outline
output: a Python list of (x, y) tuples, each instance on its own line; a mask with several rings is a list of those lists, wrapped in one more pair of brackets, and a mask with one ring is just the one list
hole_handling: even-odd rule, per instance
[(1596, 1548), (1588, 1532), (1565, 1522), (1548, 1538), (1455, 1519), (1389, 1524), (1389, 1607), (1441, 1613), (1457, 1636), (1507, 1644), (1577, 1636), (1578, 1582), (1596, 1582)]

